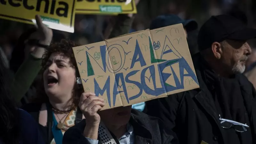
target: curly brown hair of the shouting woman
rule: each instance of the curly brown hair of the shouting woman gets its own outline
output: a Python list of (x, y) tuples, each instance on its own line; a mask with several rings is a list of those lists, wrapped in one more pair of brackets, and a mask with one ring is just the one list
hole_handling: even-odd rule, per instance
[[(62, 39), (60, 42), (53, 42), (48, 48), (47, 51), (44, 53), (43, 60), (42, 60), (42, 69), (40, 74), (42, 75), (42, 79), (40, 81), (39, 87), (37, 88), (37, 96), (35, 102), (48, 102), (48, 96), (44, 91), (44, 80), (43, 80), (43, 73), (46, 68), (48, 68), (47, 61), (49, 60), (52, 53), (60, 53), (70, 59), (70, 66), (76, 69), (76, 77), (79, 77), (79, 71), (76, 65), (75, 55), (73, 53), (72, 47), (78, 46), (73, 41)], [(73, 103), (75, 106), (78, 105), (79, 98), (81, 94), (84, 92), (82, 84), (75, 84), (73, 89)]]

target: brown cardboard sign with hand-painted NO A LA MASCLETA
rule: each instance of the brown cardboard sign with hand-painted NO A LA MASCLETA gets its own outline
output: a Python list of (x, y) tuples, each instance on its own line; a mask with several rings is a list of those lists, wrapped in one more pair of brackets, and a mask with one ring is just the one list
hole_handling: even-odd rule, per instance
[(85, 92), (103, 109), (198, 88), (182, 24), (73, 48)]

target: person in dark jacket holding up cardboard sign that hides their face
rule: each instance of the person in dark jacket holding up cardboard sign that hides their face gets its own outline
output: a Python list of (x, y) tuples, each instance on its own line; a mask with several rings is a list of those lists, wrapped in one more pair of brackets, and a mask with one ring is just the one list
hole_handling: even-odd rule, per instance
[(131, 106), (102, 110), (104, 100), (84, 92), (79, 107), (86, 119), (68, 129), (63, 144), (178, 144), (164, 123)]

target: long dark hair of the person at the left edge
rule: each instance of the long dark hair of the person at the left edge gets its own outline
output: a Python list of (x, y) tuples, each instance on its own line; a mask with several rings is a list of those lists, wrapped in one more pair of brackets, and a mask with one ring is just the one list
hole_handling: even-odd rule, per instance
[(8, 69), (5, 68), (2, 54), (0, 52), (0, 141), (6, 144), (18, 144), (19, 143), (19, 113), (15, 106), (14, 100), (9, 94), (10, 81)]

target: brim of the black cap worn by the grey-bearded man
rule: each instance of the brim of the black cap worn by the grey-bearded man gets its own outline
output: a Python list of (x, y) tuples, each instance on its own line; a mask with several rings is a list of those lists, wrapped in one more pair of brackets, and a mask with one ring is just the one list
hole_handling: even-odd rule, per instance
[(242, 30), (238, 30), (228, 36), (228, 39), (232, 40), (249, 40), (256, 37), (256, 29), (254, 28), (244, 28)]

